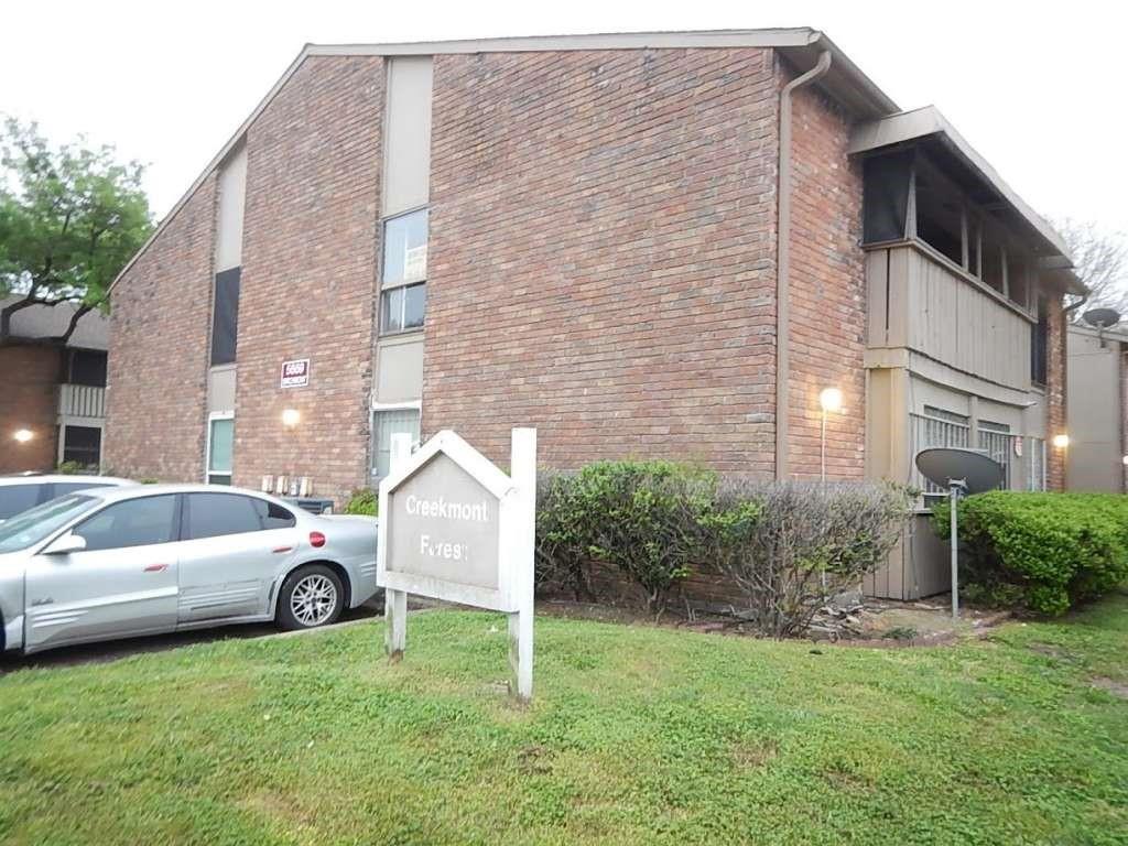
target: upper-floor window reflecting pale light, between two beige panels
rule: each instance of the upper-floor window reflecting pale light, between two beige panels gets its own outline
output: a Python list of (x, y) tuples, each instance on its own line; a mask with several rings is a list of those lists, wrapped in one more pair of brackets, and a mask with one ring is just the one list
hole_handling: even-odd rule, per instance
[(380, 333), (423, 326), (426, 311), (428, 210), (389, 218), (384, 223), (380, 280)]

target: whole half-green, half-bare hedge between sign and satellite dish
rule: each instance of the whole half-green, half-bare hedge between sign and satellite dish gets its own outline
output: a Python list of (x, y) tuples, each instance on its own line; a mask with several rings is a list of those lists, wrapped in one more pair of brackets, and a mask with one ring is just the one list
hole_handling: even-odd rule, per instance
[(828, 590), (884, 563), (909, 503), (905, 491), (883, 485), (720, 479), (669, 461), (541, 474), (538, 587), (593, 601), (591, 565), (603, 562), (660, 614), (680, 582), (712, 565), (732, 576), (765, 633), (792, 635)]

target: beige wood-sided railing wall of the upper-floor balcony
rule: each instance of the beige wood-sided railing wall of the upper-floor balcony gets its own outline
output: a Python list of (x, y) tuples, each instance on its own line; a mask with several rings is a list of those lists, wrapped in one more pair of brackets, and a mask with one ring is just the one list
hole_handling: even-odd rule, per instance
[(871, 350), (905, 349), (1015, 390), (1030, 389), (1034, 319), (916, 241), (866, 252)]

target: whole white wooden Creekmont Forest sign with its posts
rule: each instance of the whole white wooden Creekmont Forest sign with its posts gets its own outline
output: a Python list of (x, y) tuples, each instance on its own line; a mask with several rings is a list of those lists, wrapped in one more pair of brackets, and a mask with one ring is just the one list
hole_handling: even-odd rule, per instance
[(532, 695), (532, 556), (537, 430), (512, 432), (512, 475), (449, 430), (411, 455), (393, 435), (380, 482), (377, 583), (385, 589), (386, 649), (403, 655), (407, 594), (509, 615), (512, 689)]

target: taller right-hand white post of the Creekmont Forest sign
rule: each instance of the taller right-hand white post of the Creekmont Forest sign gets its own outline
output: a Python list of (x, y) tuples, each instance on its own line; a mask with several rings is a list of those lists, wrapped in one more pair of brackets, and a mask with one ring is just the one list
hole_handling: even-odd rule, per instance
[(511, 544), (512, 599), (517, 610), (509, 615), (510, 689), (521, 700), (532, 696), (532, 558), (537, 514), (537, 430), (514, 429), (510, 455), (510, 477), (515, 487), (518, 531)]

